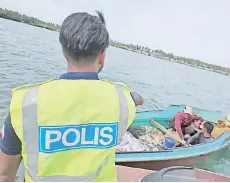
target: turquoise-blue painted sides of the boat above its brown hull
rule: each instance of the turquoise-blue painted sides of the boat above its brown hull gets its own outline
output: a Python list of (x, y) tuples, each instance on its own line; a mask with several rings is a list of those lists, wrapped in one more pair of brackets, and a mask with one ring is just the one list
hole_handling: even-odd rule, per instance
[[(177, 112), (183, 111), (185, 105), (170, 105), (165, 110), (152, 110), (137, 112), (135, 120), (131, 126), (144, 126), (151, 124), (151, 120), (159, 122), (162, 126), (168, 127), (168, 122)], [(193, 112), (205, 120), (216, 121), (224, 120), (226, 117), (219, 111), (209, 111), (192, 107)], [(192, 158), (196, 156), (207, 155), (219, 151), (230, 144), (230, 132), (225, 132), (218, 138), (205, 144), (198, 144), (187, 147), (178, 147), (173, 150), (155, 151), (155, 152), (120, 152), (116, 153), (116, 162), (140, 162), (140, 161), (160, 161), (181, 158)]]

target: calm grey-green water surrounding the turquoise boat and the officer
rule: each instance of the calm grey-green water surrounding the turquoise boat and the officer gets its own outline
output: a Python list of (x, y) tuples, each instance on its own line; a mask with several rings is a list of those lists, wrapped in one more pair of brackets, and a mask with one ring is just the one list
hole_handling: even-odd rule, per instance
[[(58, 33), (0, 19), (0, 125), (11, 89), (66, 72)], [(169, 104), (230, 112), (230, 77), (110, 47), (100, 77), (123, 81), (145, 98), (138, 110)], [(229, 148), (198, 167), (230, 175)]]

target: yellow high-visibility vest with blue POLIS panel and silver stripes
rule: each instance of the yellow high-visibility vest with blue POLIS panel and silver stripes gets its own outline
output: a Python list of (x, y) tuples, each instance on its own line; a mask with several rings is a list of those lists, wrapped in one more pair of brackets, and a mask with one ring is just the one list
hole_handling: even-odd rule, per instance
[(135, 117), (130, 90), (102, 80), (50, 80), (12, 90), (26, 181), (116, 181), (115, 147)]

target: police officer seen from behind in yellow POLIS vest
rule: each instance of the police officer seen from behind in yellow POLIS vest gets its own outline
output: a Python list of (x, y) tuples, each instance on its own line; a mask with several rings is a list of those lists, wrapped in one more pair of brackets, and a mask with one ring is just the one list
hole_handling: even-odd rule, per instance
[(109, 34), (101, 13), (74, 13), (60, 30), (67, 73), (12, 90), (0, 181), (116, 181), (115, 147), (143, 103), (123, 83), (99, 80)]

